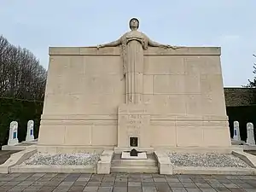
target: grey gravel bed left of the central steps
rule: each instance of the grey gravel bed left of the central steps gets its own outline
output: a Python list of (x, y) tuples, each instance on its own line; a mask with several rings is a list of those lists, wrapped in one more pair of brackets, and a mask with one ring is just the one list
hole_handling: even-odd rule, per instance
[(26, 160), (25, 165), (44, 166), (90, 166), (96, 165), (100, 159), (100, 154), (34, 154)]

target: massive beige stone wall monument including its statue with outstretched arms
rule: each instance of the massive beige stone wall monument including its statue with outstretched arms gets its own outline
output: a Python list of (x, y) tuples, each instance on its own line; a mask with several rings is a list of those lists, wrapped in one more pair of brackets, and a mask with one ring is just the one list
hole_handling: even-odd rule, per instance
[(49, 48), (38, 147), (230, 148), (220, 48), (159, 44), (129, 26), (108, 44)]

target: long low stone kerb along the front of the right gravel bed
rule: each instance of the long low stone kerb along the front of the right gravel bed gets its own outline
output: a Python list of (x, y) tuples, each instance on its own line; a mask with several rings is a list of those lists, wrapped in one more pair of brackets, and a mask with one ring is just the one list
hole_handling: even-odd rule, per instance
[(254, 168), (174, 166), (173, 174), (191, 175), (255, 175)]

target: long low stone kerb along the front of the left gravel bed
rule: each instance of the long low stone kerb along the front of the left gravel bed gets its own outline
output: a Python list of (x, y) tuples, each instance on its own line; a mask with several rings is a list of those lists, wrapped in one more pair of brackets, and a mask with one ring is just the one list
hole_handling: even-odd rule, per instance
[(30, 166), (10, 167), (10, 172), (56, 172), (56, 173), (96, 173), (96, 166)]

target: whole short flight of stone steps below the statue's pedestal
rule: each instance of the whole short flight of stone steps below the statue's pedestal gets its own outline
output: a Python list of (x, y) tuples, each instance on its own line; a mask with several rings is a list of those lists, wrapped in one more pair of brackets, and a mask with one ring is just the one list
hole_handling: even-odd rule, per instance
[(154, 154), (147, 154), (147, 160), (124, 160), (121, 154), (113, 154), (110, 172), (159, 173)]

